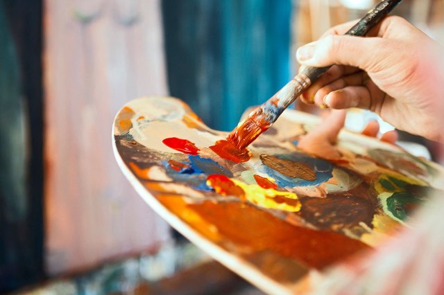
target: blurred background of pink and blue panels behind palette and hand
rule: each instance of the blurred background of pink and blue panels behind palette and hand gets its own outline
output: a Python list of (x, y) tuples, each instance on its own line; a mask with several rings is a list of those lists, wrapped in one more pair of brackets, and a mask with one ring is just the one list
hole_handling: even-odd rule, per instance
[[(128, 100), (171, 95), (228, 131), (295, 75), (298, 46), (374, 5), (0, 0), (0, 293), (260, 294), (137, 196), (112, 120)], [(395, 14), (444, 43), (443, 0)]]

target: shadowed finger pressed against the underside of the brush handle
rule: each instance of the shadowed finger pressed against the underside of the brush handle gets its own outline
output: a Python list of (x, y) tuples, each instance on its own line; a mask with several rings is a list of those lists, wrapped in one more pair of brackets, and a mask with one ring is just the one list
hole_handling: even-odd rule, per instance
[(359, 69), (355, 67), (337, 66), (337, 65), (332, 66), (330, 69), (328, 69), (328, 71), (325, 72), (325, 74), (321, 75), (321, 77), (318, 78), (316, 82), (311, 84), (311, 86), (302, 93), (301, 96), (302, 100), (305, 103), (312, 105), (314, 103), (314, 97), (316, 95), (316, 92), (318, 92), (319, 89), (321, 89), (327, 84), (330, 84), (334, 80), (338, 80), (343, 75), (350, 75), (351, 73), (355, 73), (357, 71), (359, 71)]

